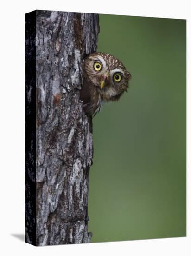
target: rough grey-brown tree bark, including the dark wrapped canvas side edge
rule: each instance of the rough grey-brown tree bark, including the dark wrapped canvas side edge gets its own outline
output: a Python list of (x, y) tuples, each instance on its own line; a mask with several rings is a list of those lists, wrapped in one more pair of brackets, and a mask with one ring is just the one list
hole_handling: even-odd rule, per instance
[(83, 112), (79, 90), (83, 58), (97, 48), (98, 23), (98, 14), (90, 13), (37, 10), (25, 15), (27, 243), (91, 239), (92, 121)]

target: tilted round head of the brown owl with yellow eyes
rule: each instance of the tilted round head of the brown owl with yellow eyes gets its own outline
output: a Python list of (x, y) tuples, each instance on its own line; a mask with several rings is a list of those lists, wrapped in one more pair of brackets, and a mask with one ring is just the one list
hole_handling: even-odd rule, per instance
[(116, 101), (127, 91), (131, 75), (122, 62), (110, 54), (90, 54), (84, 60), (84, 70), (104, 101)]

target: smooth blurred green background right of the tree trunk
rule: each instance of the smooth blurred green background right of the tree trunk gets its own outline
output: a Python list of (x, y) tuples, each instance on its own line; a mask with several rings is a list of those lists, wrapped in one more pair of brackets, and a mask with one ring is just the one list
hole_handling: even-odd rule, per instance
[(93, 119), (92, 242), (186, 236), (186, 20), (101, 14), (98, 51), (132, 79)]

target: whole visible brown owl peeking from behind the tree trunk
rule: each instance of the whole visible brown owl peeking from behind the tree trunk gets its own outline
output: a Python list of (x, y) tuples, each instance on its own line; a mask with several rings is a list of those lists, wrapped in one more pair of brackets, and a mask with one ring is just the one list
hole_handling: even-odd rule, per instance
[(130, 73), (120, 60), (106, 53), (89, 54), (84, 59), (80, 99), (88, 116), (95, 116), (103, 104), (117, 101), (127, 91)]

